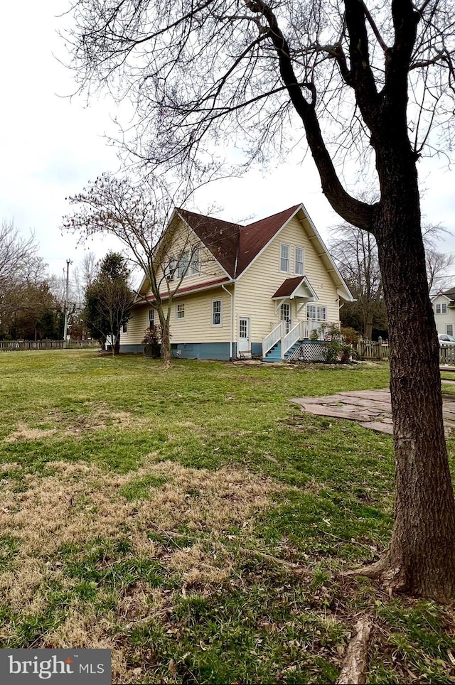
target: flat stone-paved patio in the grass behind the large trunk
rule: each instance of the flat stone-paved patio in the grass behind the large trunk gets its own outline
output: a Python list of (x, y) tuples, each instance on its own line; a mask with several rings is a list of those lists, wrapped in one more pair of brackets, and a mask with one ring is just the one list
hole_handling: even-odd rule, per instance
[[(443, 381), (444, 382), (444, 381)], [(446, 435), (455, 429), (455, 393), (442, 394), (442, 410)], [(390, 390), (350, 390), (324, 397), (296, 397), (291, 402), (301, 410), (316, 416), (358, 421), (363, 428), (380, 433), (393, 432)]]

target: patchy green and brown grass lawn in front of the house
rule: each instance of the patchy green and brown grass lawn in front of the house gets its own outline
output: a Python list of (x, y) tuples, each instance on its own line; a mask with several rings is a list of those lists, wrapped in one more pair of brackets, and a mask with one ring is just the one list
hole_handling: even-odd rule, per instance
[(387, 544), (392, 438), (289, 402), (387, 384), (1, 354), (0, 646), (109, 647), (116, 684), (325, 684), (369, 613), (369, 683), (454, 682), (451, 611), (336, 573)]

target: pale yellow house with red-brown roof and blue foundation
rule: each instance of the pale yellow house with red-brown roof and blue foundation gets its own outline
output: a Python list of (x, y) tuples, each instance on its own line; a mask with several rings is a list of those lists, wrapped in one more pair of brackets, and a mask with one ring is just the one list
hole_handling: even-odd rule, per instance
[[(178, 245), (188, 227), (197, 249), (167, 266), (170, 284), (186, 273), (173, 295), (173, 356), (288, 358), (301, 341), (311, 345), (311, 330), (339, 321), (342, 301), (353, 301), (304, 205), (246, 226), (175, 210), (168, 244)], [(159, 323), (147, 279), (140, 294), (121, 352), (143, 352), (144, 330)]]

